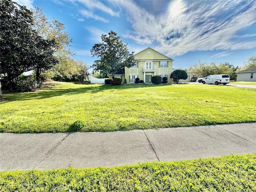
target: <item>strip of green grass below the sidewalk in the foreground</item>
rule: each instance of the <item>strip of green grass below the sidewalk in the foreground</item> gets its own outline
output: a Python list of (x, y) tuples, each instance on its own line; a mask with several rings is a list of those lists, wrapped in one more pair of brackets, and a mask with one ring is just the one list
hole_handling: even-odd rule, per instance
[(256, 153), (112, 168), (0, 172), (0, 191), (256, 191)]

